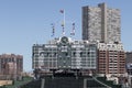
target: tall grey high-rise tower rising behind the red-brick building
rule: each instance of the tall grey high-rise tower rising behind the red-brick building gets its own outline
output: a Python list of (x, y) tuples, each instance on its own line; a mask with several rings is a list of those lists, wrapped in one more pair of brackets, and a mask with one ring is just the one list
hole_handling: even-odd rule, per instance
[(108, 8), (106, 3), (100, 3), (98, 7), (82, 7), (82, 40), (120, 43), (120, 24), (119, 9)]

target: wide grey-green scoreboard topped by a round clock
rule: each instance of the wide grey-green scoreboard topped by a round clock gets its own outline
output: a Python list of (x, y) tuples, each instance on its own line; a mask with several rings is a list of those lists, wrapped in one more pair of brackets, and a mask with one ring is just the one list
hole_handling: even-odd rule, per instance
[(97, 69), (97, 44), (59, 37), (32, 47), (33, 69)]

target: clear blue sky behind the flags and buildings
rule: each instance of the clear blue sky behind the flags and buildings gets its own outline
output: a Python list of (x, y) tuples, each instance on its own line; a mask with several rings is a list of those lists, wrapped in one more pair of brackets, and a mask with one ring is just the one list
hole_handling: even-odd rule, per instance
[(81, 7), (106, 2), (121, 10), (121, 40), (125, 51), (132, 51), (132, 0), (0, 0), (0, 54), (21, 54), (24, 70), (32, 69), (32, 45), (47, 43), (55, 23), (55, 37), (62, 35), (61, 9), (65, 9), (66, 35), (76, 24), (75, 38), (81, 40)]

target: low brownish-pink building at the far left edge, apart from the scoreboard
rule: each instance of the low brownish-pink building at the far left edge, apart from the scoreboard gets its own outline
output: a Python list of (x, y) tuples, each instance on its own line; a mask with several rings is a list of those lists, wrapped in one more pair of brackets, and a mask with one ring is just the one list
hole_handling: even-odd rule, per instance
[(0, 76), (16, 78), (23, 72), (23, 56), (14, 54), (0, 55)]

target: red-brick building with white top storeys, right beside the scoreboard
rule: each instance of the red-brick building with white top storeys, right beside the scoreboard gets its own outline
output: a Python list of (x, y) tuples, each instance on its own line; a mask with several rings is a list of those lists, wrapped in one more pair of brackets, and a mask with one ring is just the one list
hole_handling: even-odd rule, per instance
[(98, 73), (124, 76), (125, 53), (122, 44), (98, 43)]

